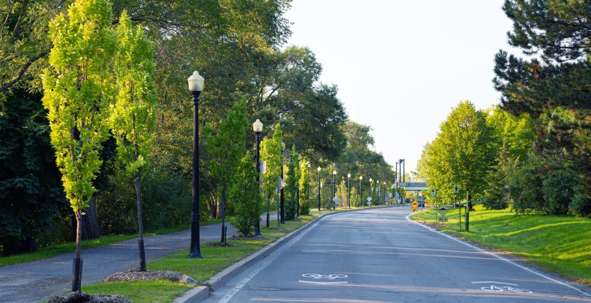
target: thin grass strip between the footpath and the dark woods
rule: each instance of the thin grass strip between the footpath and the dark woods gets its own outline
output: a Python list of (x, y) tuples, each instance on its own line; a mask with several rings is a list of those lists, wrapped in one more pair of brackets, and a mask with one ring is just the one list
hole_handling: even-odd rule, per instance
[[(208, 221), (202, 221), (201, 225), (216, 224), (216, 223), (221, 223), (221, 222), (222, 222), (221, 219), (208, 220)], [(153, 230), (148, 233), (144, 233), (144, 235), (145, 236), (155, 236), (157, 234), (180, 232), (181, 230), (186, 230), (186, 229), (190, 229), (190, 228), (191, 228), (190, 225), (167, 227), (164, 229), (158, 229), (158, 230)], [(113, 236), (102, 236), (102, 237), (99, 237), (98, 239), (93, 239), (93, 240), (84, 240), (84, 241), (82, 241), (82, 249), (87, 249), (87, 248), (97, 247), (97, 246), (111, 245), (113, 243), (118, 243), (118, 242), (129, 240), (129, 239), (134, 239), (135, 237), (138, 237), (138, 234), (118, 234), (118, 235), (113, 235)], [(42, 247), (39, 250), (37, 250), (37, 252), (33, 252), (33, 253), (23, 253), (22, 255), (0, 257), (0, 266), (18, 264), (18, 263), (26, 263), (26, 262), (31, 262), (31, 261), (35, 261), (35, 260), (43, 260), (43, 259), (51, 258), (51, 257), (57, 256), (57, 255), (61, 255), (62, 253), (73, 252), (74, 250), (76, 250), (76, 243), (75, 242), (51, 245), (51, 246), (47, 246), (47, 247)]]

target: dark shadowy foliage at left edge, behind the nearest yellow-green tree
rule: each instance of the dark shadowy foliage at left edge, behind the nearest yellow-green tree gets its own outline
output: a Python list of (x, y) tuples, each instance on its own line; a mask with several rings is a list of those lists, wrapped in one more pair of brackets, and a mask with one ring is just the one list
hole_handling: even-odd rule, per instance
[(0, 100), (0, 245), (5, 255), (11, 252), (9, 242), (39, 239), (54, 217), (68, 211), (40, 100), (22, 89)]

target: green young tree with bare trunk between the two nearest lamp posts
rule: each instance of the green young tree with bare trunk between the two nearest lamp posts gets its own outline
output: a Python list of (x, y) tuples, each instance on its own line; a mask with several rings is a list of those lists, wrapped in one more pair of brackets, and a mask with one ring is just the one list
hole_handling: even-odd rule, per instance
[(246, 101), (236, 102), (228, 116), (220, 124), (215, 134), (210, 126), (206, 126), (206, 147), (209, 153), (209, 170), (216, 181), (217, 191), (222, 197), (220, 215), (222, 216), (221, 243), (226, 242), (226, 194), (236, 172), (237, 163), (242, 158), (246, 148)]

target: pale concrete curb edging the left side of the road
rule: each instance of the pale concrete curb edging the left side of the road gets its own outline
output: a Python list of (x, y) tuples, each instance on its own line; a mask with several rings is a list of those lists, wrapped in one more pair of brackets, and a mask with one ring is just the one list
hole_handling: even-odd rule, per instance
[[(395, 207), (395, 206), (382, 206), (382, 207)], [(373, 208), (375, 209), (375, 208), (382, 208), (382, 207), (373, 207)], [(372, 208), (366, 207), (366, 208), (355, 209), (355, 210), (343, 210), (343, 211), (338, 211), (338, 212), (334, 212), (334, 213), (321, 214), (320, 216), (314, 218), (313, 220), (310, 220), (308, 223), (304, 224), (303, 226), (294, 230), (293, 232), (280, 237), (275, 242), (270, 243), (269, 245), (263, 247), (262, 249), (259, 249), (258, 251), (256, 251), (252, 255), (249, 255), (246, 258), (244, 258), (244, 259), (228, 266), (227, 268), (223, 269), (222, 271), (218, 272), (216, 275), (212, 276), (212, 278), (210, 278), (208, 281), (203, 282), (203, 285), (206, 285), (207, 287), (206, 286), (197, 286), (196, 288), (190, 289), (182, 297), (176, 298), (174, 300), (174, 302), (175, 303), (195, 303), (195, 302), (199, 302), (199, 301), (203, 300), (204, 298), (207, 298), (207, 296), (209, 295), (209, 292), (216, 291), (217, 289), (221, 288), (224, 284), (226, 284), (226, 282), (228, 282), (229, 279), (232, 279), (236, 275), (238, 275), (238, 273), (245, 271), (246, 269), (248, 269), (249, 267), (254, 265), (254, 263), (271, 255), (272, 252), (274, 252), (279, 247), (281, 247), (281, 245), (283, 245), (285, 242), (287, 242), (291, 238), (297, 236), (297, 234), (299, 234), (300, 232), (305, 230), (307, 227), (310, 227), (311, 223), (313, 223), (314, 221), (316, 221), (324, 216), (330, 216), (333, 214), (349, 213), (350, 211), (369, 210), (369, 209), (372, 209)], [(195, 291), (195, 289), (197, 289), (197, 288), (199, 288), (199, 291)], [(209, 292), (207, 292), (207, 295), (202, 294), (203, 289), (209, 289)]]

